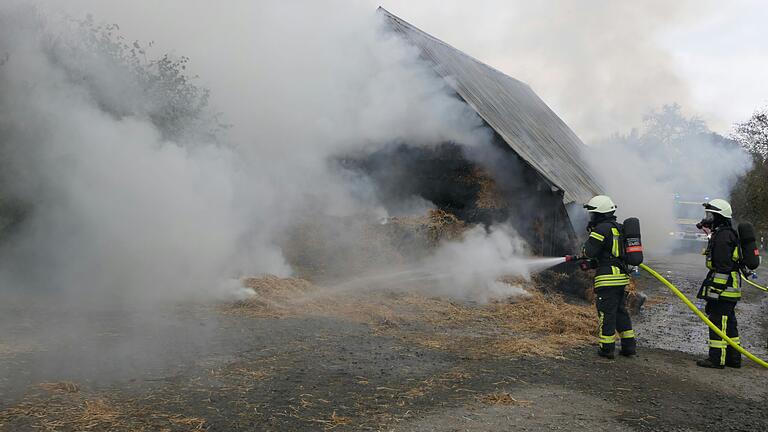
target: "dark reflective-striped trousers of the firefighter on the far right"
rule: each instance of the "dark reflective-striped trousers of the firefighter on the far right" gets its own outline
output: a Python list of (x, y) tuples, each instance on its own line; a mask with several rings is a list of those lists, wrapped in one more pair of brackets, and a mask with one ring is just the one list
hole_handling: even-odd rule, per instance
[[(707, 300), (704, 312), (707, 318), (726, 336), (739, 344), (739, 329), (736, 322), (736, 302), (728, 300)], [(741, 353), (709, 329), (709, 360), (719, 365), (740, 365)]]

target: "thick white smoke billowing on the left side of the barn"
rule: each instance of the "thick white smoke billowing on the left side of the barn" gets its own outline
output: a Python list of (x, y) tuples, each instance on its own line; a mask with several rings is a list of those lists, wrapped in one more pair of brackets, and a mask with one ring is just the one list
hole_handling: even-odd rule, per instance
[(295, 216), (369, 210), (329, 169), (332, 157), (488, 138), (372, 10), (243, 6), (252, 21), (236, 35), (242, 51), (227, 46), (235, 35), (213, 31), (207, 46), (219, 49), (198, 60), (221, 71), (207, 79), (234, 124), (224, 142), (165, 136), (152, 98), (89, 51), (76, 25), (0, 8), (4, 163), (18, 174), (4, 188), (32, 207), (3, 247), (5, 286), (154, 299), (287, 274), (276, 243)]

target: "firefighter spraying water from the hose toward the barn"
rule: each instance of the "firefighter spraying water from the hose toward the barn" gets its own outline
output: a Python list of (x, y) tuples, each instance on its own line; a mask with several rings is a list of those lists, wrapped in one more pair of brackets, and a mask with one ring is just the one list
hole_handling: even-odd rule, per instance
[(635, 331), (626, 308), (629, 275), (622, 260), (624, 245), (621, 244), (622, 226), (616, 222), (616, 204), (610, 197), (598, 195), (584, 208), (589, 212), (587, 231), (582, 254), (590, 259), (595, 271), (595, 297), (600, 348), (598, 354), (614, 358), (616, 332), (621, 339), (619, 354), (632, 356), (636, 353)]

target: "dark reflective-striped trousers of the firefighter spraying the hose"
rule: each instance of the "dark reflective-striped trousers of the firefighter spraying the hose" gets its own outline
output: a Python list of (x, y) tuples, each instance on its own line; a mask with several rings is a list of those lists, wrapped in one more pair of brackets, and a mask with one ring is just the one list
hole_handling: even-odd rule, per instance
[(612, 353), (616, 347), (616, 332), (621, 338), (624, 352), (635, 352), (635, 331), (627, 312), (627, 292), (625, 286), (608, 286), (595, 290), (597, 321), (599, 325), (600, 350)]

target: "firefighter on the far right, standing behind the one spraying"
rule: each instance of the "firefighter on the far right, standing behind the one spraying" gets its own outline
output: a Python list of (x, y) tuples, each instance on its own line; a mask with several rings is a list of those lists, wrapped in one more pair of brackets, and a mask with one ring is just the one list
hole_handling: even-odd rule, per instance
[[(731, 205), (722, 199), (704, 203), (705, 217), (700, 222), (711, 230), (706, 255), (709, 269), (701, 285), (698, 298), (706, 300), (707, 317), (734, 342), (739, 343), (736, 327), (736, 303), (741, 299), (739, 277), (739, 236), (731, 226)], [(741, 353), (709, 330), (709, 357), (696, 362), (708, 368), (723, 369), (725, 366), (741, 367)]]

